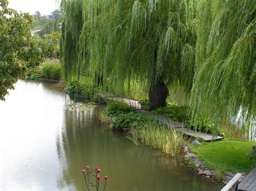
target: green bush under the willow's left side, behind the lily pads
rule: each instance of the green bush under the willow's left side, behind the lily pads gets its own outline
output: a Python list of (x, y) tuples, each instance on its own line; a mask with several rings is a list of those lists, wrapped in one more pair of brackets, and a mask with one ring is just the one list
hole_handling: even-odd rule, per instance
[(88, 100), (93, 100), (95, 98), (95, 88), (92, 84), (86, 80), (83, 81), (69, 81), (67, 90), (71, 95), (82, 96)]

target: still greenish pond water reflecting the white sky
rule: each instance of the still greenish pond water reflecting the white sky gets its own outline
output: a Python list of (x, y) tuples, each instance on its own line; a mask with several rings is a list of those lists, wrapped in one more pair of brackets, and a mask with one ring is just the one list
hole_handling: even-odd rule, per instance
[[(77, 100), (76, 100), (77, 101)], [(183, 165), (107, 130), (102, 106), (70, 111), (60, 83), (18, 81), (0, 101), (1, 190), (86, 190), (81, 170), (98, 166), (106, 190), (219, 190)], [(104, 182), (100, 183), (101, 189)]]

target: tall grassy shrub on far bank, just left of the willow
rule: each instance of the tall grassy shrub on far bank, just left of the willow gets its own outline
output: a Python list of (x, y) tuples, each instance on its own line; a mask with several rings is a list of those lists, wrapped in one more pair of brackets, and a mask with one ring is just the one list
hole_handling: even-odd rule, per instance
[(62, 78), (62, 68), (59, 62), (44, 63), (41, 72), (44, 79), (60, 80)]

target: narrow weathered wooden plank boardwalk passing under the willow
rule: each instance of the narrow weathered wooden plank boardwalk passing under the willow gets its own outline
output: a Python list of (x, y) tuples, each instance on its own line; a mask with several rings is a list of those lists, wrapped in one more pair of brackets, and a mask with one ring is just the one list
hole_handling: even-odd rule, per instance
[(101, 93), (101, 94), (98, 94), (98, 95), (103, 97), (105, 100), (125, 102), (127, 105), (136, 108), (137, 112), (139, 112), (141, 114), (144, 114), (144, 115), (151, 116), (153, 118), (156, 118), (159, 121), (161, 121), (163, 124), (165, 124), (165, 125), (167, 125), (171, 128), (176, 128), (177, 131), (182, 131), (187, 136), (202, 138), (206, 142), (210, 142), (212, 140), (224, 139), (221, 136), (216, 137), (216, 136), (213, 136), (211, 134), (207, 134), (207, 133), (203, 133), (203, 132), (196, 132), (194, 130), (187, 129), (183, 123), (173, 121), (173, 119), (170, 118), (170, 117), (166, 117), (166, 116), (163, 116), (163, 115), (157, 115), (157, 114), (154, 114), (151, 111), (142, 110), (142, 105), (140, 105), (139, 102), (136, 101), (136, 100), (129, 100), (129, 99), (126, 99), (126, 98), (117, 97), (117, 96), (114, 96), (114, 95), (109, 94), (109, 93)]

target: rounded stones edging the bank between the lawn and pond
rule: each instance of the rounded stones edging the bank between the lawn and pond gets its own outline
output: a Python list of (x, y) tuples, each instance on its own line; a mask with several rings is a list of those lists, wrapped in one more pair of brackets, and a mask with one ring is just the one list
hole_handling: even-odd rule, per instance
[[(191, 162), (188, 162), (188, 166), (193, 168), (195, 171), (197, 171), (199, 175), (204, 176), (207, 179), (213, 179), (217, 181), (214, 176), (215, 171), (208, 169), (206, 164), (203, 161), (201, 161), (198, 158), (198, 156), (189, 149), (188, 146), (183, 147), (183, 155), (184, 155), (185, 161), (191, 160)], [(241, 174), (242, 174), (242, 177), (238, 180), (239, 182), (241, 182), (247, 175), (247, 173), (241, 173)], [(226, 176), (226, 179), (222, 181), (222, 183), (226, 185), (235, 176), (235, 174), (231, 172), (226, 172), (225, 176)]]

